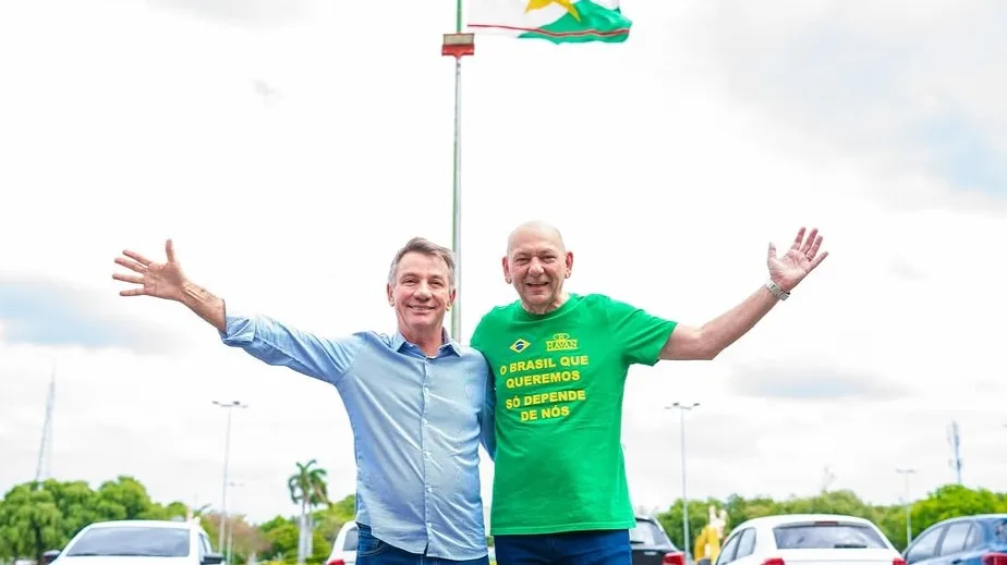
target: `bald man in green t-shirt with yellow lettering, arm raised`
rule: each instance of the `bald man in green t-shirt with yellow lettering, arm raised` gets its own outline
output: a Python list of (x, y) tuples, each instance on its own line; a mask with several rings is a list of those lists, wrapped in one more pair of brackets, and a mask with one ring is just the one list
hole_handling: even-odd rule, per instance
[(504, 277), (519, 300), (480, 321), (472, 346), (494, 370), (496, 457), (490, 511), (499, 565), (630, 565), (636, 524), (620, 443), (630, 365), (713, 359), (828, 256), (803, 228), (768, 248), (768, 279), (692, 328), (603, 294), (569, 294), (573, 269), (555, 228), (529, 222), (507, 244)]

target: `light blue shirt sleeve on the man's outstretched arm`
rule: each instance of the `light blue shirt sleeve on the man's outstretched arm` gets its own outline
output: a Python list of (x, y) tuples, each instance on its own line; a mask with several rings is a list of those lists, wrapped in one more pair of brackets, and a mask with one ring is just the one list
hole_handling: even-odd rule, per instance
[(288, 327), (268, 316), (244, 314), (228, 307), (225, 345), (240, 347), (268, 365), (288, 367), (302, 374), (336, 384), (353, 366), (364, 341), (353, 334), (336, 340), (319, 337)]

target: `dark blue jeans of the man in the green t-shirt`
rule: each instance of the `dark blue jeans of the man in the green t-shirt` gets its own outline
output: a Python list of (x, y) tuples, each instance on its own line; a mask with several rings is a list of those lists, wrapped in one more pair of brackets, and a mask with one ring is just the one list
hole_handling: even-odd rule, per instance
[(498, 565), (631, 565), (629, 530), (494, 536)]

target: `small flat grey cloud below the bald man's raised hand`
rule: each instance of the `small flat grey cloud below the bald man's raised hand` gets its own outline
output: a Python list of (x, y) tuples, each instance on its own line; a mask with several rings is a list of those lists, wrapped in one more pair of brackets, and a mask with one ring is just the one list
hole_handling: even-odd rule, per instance
[(738, 394), (756, 398), (885, 402), (910, 394), (906, 388), (888, 382), (868, 369), (800, 365), (792, 359), (739, 365), (729, 380)]

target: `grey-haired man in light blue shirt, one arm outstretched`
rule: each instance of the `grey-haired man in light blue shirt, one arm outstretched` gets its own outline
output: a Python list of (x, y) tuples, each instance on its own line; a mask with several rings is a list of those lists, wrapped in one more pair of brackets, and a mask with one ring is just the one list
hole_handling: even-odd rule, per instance
[(395, 334), (326, 339), (226, 308), (185, 277), (170, 239), (165, 247), (162, 263), (130, 250), (116, 259), (137, 274), (112, 278), (141, 285), (120, 295), (179, 302), (227, 345), (339, 391), (354, 434), (357, 565), (488, 563), (478, 446), (493, 456), (493, 381), (483, 355), (444, 330), (456, 297), (449, 249), (416, 237), (396, 255)]

